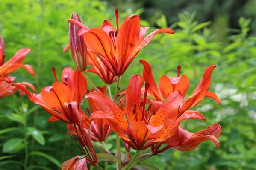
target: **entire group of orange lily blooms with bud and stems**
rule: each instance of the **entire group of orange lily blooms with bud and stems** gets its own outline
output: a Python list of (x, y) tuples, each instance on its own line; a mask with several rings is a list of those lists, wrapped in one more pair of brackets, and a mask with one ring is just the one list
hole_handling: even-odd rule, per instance
[[(18, 67), (23, 67), (34, 75), (31, 66), (21, 64), (30, 49), (19, 50), (13, 58), (3, 63), (4, 43), (1, 38), (0, 97), (11, 95), (19, 89), (21, 95), (26, 93), (32, 102), (52, 115), (49, 121), (60, 120), (67, 123), (68, 129), (71, 130), (70, 136), (79, 143), (85, 157), (77, 156), (65, 161), (62, 164), (63, 170), (84, 170), (87, 169), (87, 163), (102, 169), (97, 164), (100, 158), (97, 157), (93, 145), (103, 151), (106, 157), (102, 158), (105, 161), (114, 161), (117, 169), (127, 170), (135, 167), (138, 160), (144, 160), (169, 148), (190, 151), (207, 139), (219, 148), (216, 137), (221, 134), (221, 127), (218, 123), (196, 133), (179, 127), (180, 122), (186, 119), (205, 121), (205, 117), (199, 112), (188, 110), (199, 104), (204, 97), (213, 98), (220, 104), (217, 95), (208, 91), (212, 71), (216, 66), (209, 66), (205, 70), (197, 88), (186, 100), (184, 98), (189, 80), (186, 75), (179, 76), (180, 66), (177, 77), (162, 75), (158, 89), (151, 66), (144, 60), (140, 60), (144, 66), (143, 76), (132, 76), (127, 88), (120, 90), (121, 76), (138, 52), (154, 35), (174, 32), (169, 28), (156, 29), (144, 37), (149, 28), (140, 26), (138, 15), (127, 17), (119, 28), (118, 10), (115, 10), (115, 14), (117, 30), (108, 20), (103, 20), (100, 28), (89, 29), (81, 23), (78, 14), (73, 12), (69, 20), (70, 44), (64, 51), (70, 48), (77, 69), (63, 69), (62, 82), (58, 82), (55, 76), (56, 82), (41, 89), (39, 94), (34, 93), (35, 87), (32, 84), (13, 83), (15, 77), (8, 75)], [(87, 65), (91, 68), (87, 69)], [(88, 79), (87, 72), (96, 73), (107, 88), (94, 86)], [(87, 82), (93, 89), (88, 90)], [(112, 97), (110, 84), (114, 82), (116, 92)], [(26, 86), (29, 86), (33, 93), (29, 92)], [(107, 90), (109, 95), (106, 95)], [(80, 107), (84, 99), (88, 100), (90, 106), (86, 113)], [(116, 132), (117, 136), (115, 156), (106, 147), (94, 143), (106, 141), (112, 131)], [(127, 152), (122, 158), (119, 138), (123, 140)], [(133, 156), (130, 153), (131, 148), (136, 150)], [(144, 154), (144, 150), (149, 148), (151, 153)]]

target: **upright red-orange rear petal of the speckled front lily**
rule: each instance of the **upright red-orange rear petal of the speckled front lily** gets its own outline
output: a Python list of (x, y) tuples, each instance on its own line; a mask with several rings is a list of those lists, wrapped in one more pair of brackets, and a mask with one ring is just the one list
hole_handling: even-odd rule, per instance
[[(141, 75), (134, 75), (129, 81), (129, 84), (126, 89), (126, 109), (127, 109), (127, 120), (130, 127), (135, 124), (141, 118), (141, 109), (139, 105), (142, 102), (141, 99), (141, 86), (143, 85), (144, 80)], [(132, 112), (133, 107), (135, 106), (135, 114)]]

